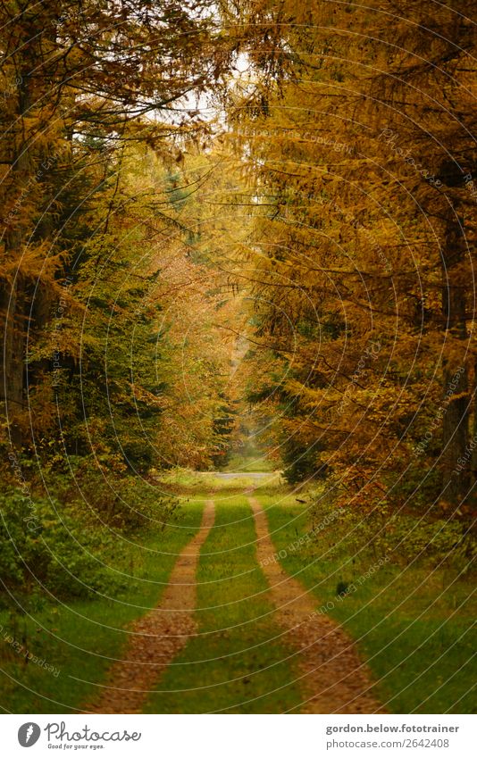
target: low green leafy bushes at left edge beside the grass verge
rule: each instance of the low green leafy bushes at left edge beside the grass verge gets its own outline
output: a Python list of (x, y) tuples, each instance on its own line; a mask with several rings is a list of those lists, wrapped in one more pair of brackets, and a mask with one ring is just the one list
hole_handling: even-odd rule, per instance
[[(121, 571), (130, 571), (118, 534), (151, 523), (163, 531), (176, 519), (175, 497), (125, 474), (117, 460), (99, 463), (71, 456), (68, 465), (59, 458), (38, 472), (28, 458), (19, 460), (17, 471), (26, 477), (21, 492), (7, 487), (0, 496), (2, 603), (12, 602), (10, 593), (28, 607), (50, 594), (115, 595), (126, 586)], [(112, 486), (106, 472), (111, 476), (115, 466)]]

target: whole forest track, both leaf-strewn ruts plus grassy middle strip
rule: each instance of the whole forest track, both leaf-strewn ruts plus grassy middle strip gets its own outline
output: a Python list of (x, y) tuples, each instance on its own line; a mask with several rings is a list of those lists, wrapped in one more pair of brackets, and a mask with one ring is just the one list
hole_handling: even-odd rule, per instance
[[(205, 501), (200, 529), (180, 553), (161, 603), (130, 627), (123, 659), (84, 712), (385, 712), (353, 640), (273, 559), (268, 518), (250, 485), (244, 491), (240, 482), (231, 500), (226, 480), (215, 489), (217, 520), (213, 500)], [(247, 685), (241, 696), (252, 679), (256, 691)], [(227, 695), (234, 681), (235, 694)], [(290, 687), (295, 695), (286, 694)], [(282, 701), (274, 701), (281, 690)]]

